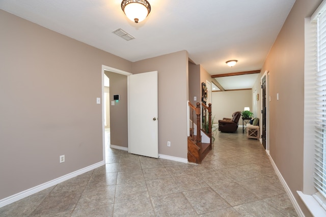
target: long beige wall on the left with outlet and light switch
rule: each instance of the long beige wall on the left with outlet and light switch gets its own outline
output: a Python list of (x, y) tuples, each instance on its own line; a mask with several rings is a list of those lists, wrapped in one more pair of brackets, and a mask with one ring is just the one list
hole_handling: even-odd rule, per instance
[(103, 160), (101, 68), (132, 63), (2, 10), (0, 28), (3, 199)]

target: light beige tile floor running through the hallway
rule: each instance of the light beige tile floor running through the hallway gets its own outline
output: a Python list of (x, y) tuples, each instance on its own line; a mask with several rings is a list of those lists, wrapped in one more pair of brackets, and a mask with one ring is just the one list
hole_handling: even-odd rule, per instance
[(259, 141), (216, 133), (201, 165), (108, 148), (106, 164), (0, 216), (297, 216)]

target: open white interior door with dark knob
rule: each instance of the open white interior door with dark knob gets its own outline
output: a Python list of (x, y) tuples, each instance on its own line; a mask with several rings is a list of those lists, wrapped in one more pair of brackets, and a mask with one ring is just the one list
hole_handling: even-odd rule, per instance
[(157, 71), (128, 76), (128, 152), (158, 158)]

